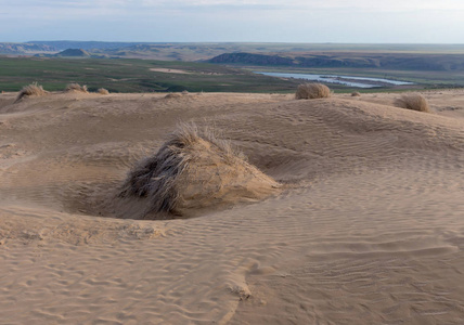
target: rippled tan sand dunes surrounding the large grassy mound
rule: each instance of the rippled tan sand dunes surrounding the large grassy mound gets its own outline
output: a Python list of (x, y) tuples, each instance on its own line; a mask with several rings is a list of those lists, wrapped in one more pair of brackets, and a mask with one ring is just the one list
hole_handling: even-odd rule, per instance
[[(1, 324), (462, 323), (464, 90), (423, 92), (435, 114), (388, 93), (15, 95)], [(138, 205), (115, 195), (180, 121), (220, 130), (282, 192), (127, 219)]]

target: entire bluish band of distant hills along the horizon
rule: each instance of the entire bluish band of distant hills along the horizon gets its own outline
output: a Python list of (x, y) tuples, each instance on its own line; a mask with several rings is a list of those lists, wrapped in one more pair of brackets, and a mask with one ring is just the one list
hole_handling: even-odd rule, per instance
[(178, 43), (63, 40), (0, 43), (0, 54), (43, 57), (146, 58), (239, 66), (464, 72), (464, 44)]

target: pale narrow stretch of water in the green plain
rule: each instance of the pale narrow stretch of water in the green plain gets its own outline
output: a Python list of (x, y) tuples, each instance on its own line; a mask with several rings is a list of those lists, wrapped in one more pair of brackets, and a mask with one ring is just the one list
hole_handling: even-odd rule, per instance
[[(390, 79), (355, 77), (355, 76), (337, 76), (337, 75), (328, 76), (328, 75), (313, 75), (313, 74), (284, 74), (284, 73), (261, 73), (261, 72), (254, 72), (254, 73), (265, 75), (265, 76), (271, 76), (271, 77), (322, 81), (322, 82), (338, 83), (338, 84), (345, 84), (345, 86), (357, 87), (357, 88), (382, 87), (383, 84), (378, 84), (378, 82), (387, 86), (388, 84), (391, 84), (391, 86), (414, 84), (413, 82), (408, 82), (408, 81), (397, 81), (397, 80), (390, 80)], [(356, 82), (352, 80), (356, 80)], [(370, 81), (373, 81), (374, 83)]]

